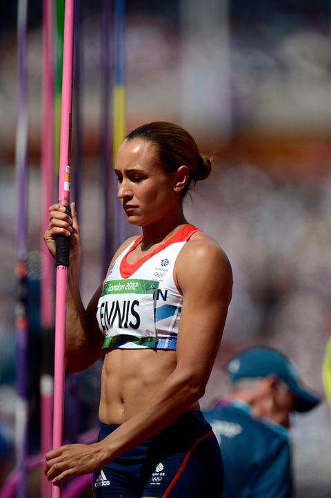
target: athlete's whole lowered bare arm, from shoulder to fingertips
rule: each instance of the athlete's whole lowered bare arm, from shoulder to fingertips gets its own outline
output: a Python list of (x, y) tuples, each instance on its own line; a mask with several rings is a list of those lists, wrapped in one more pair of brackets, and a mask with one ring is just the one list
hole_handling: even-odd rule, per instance
[(176, 264), (177, 282), (183, 292), (177, 367), (151, 393), (143, 409), (106, 439), (90, 448), (69, 446), (50, 452), (48, 476), (58, 474), (54, 482), (97, 470), (163, 430), (203, 395), (221, 343), (231, 298), (232, 271), (224, 253), (209, 238), (192, 240), (186, 246)]

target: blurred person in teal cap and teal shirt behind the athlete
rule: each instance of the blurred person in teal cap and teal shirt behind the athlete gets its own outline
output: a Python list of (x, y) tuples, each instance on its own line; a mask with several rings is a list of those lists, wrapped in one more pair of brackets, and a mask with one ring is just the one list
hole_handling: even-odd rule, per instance
[(205, 418), (221, 447), (223, 498), (294, 496), (290, 415), (320, 399), (277, 349), (244, 349), (226, 366), (230, 387)]

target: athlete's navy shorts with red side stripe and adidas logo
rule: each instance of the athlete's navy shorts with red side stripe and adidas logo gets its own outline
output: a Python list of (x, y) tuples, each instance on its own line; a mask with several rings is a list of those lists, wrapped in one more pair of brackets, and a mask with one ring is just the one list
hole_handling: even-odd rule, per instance
[[(101, 423), (99, 441), (117, 425)], [(168, 428), (93, 475), (94, 497), (221, 498), (223, 464), (203, 414), (186, 412)]]

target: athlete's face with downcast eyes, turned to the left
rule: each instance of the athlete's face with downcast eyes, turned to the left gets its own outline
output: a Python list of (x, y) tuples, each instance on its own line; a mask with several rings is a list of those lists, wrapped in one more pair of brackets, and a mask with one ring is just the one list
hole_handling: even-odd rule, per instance
[(114, 171), (117, 195), (131, 224), (150, 226), (172, 216), (179, 206), (180, 195), (174, 190), (177, 172), (165, 171), (152, 142), (125, 140), (119, 147)]

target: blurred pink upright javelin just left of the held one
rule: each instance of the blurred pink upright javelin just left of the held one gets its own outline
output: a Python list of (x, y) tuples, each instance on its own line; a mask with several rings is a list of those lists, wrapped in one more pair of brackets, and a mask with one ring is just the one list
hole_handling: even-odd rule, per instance
[[(42, 192), (42, 218), (41, 233), (48, 224), (48, 207), (53, 199), (53, 70), (52, 70), (52, 0), (43, 0), (43, 132), (41, 142), (41, 192)], [(52, 353), (51, 337), (54, 329), (53, 320), (53, 262), (41, 237), (41, 331), (43, 365), (40, 378), (40, 404), (41, 404), (41, 453), (46, 454), (52, 448)], [(41, 497), (50, 498), (51, 486), (41, 469)]]

